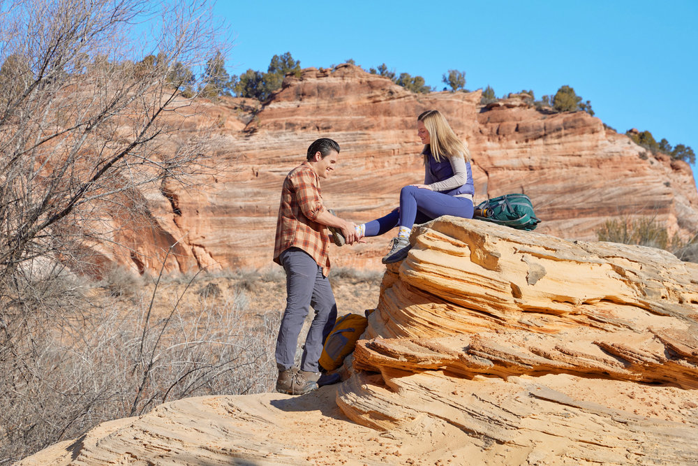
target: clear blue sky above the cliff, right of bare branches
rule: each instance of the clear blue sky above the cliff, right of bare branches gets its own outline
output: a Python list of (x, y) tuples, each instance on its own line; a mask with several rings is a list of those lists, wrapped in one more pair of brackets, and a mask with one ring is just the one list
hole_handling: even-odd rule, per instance
[(219, 0), (214, 11), (232, 33), (231, 74), (290, 52), (303, 68), (385, 63), (438, 89), (457, 69), (467, 89), (497, 96), (570, 85), (617, 131), (698, 152), (698, 0)]

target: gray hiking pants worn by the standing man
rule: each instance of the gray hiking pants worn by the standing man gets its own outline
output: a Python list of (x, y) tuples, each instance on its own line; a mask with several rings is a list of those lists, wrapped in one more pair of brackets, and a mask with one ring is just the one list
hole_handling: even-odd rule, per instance
[(298, 334), (312, 306), (315, 317), (305, 340), (300, 368), (318, 372), (322, 345), (337, 319), (332, 286), (322, 276), (322, 267), (302, 249), (290, 247), (281, 253), (279, 260), (286, 271), (286, 308), (276, 338), (276, 367), (286, 370), (293, 366)]

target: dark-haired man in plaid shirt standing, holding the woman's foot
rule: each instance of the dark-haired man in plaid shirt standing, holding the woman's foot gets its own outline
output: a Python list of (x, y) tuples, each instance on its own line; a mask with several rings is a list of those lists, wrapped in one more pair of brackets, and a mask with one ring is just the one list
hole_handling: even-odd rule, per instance
[[(300, 395), (318, 388), (322, 345), (334, 326), (337, 306), (329, 284), (329, 237), (352, 244), (355, 224), (331, 214), (322, 204), (320, 178), (329, 178), (339, 158), (339, 144), (328, 138), (308, 148), (306, 161), (288, 173), (281, 190), (276, 221), (274, 262), (286, 272), (286, 308), (276, 339), (276, 391)], [(343, 238), (341, 238), (343, 237)], [(309, 312), (315, 317), (303, 347), (299, 369), (294, 367), (298, 335)]]

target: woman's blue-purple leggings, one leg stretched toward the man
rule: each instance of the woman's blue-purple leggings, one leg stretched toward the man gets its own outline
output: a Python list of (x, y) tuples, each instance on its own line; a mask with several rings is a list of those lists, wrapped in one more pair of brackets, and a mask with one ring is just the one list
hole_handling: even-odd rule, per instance
[(429, 189), (406, 186), (400, 191), (400, 208), (385, 217), (369, 221), (364, 235), (383, 235), (398, 225), (412, 228), (415, 223), (423, 224), (442, 215), (472, 219), (473, 210), (473, 201), (468, 198), (456, 198)]

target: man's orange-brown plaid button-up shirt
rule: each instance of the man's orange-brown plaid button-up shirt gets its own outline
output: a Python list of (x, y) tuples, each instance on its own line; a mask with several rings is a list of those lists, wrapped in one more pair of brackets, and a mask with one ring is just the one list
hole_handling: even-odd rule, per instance
[(281, 205), (276, 220), (274, 262), (290, 247), (303, 249), (322, 267), (322, 274), (329, 274), (329, 236), (325, 225), (314, 219), (325, 211), (320, 194), (320, 178), (311, 166), (304, 162), (291, 170), (283, 180)]

